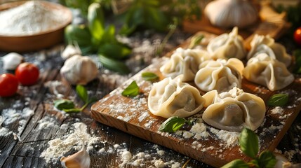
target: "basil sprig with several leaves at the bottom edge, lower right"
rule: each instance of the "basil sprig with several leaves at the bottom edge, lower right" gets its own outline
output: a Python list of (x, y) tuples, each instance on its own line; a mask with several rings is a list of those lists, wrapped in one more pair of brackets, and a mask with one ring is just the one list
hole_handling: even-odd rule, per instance
[(276, 165), (276, 158), (270, 151), (262, 151), (259, 156), (259, 142), (257, 134), (248, 128), (244, 128), (239, 136), (239, 146), (241, 151), (248, 157), (252, 158), (250, 162), (244, 162), (243, 160), (237, 159), (227, 163), (222, 168), (248, 168), (248, 167), (265, 167), (273, 168)]

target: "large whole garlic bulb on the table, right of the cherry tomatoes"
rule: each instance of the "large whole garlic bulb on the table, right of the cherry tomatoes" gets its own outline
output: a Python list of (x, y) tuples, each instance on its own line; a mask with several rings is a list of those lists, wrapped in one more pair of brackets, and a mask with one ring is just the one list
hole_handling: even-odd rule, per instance
[(65, 61), (60, 74), (72, 85), (86, 85), (98, 76), (98, 68), (90, 57), (74, 55)]

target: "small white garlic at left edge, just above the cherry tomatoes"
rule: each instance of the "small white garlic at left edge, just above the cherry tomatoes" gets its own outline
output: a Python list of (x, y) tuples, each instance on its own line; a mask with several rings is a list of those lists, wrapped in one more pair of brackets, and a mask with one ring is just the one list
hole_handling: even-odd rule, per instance
[(15, 70), (17, 66), (23, 62), (23, 57), (16, 52), (11, 52), (4, 55), (2, 61), (4, 62), (4, 69)]

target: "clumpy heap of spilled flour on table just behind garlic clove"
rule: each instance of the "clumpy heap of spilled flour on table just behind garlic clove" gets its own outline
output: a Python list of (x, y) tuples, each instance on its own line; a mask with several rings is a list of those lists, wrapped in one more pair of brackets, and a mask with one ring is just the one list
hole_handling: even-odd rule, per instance
[(71, 149), (79, 151), (82, 141), (85, 142), (87, 151), (90, 151), (93, 148), (93, 144), (99, 141), (99, 137), (88, 134), (87, 125), (84, 123), (74, 123), (70, 127), (71, 130), (69, 134), (48, 141), (48, 148), (41, 153), (41, 157), (44, 158), (46, 162), (51, 162), (52, 160), (56, 162), (58, 158), (65, 155)]

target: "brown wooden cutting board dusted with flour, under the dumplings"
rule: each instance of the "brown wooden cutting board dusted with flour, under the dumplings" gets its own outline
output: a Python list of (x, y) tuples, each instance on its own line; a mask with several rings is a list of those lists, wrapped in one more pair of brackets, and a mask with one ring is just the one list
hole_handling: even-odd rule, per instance
[[(214, 34), (199, 32), (204, 34), (206, 39), (202, 41), (200, 47), (206, 47), (210, 38)], [(181, 45), (182, 48), (189, 46), (190, 39)], [(205, 162), (213, 167), (221, 167), (227, 162), (241, 158), (249, 160), (239, 149), (237, 143), (230, 144), (227, 139), (217, 136), (216, 132), (222, 134), (232, 134), (234, 132), (222, 132), (206, 125), (208, 137), (198, 139), (196, 137), (185, 138), (181, 134), (168, 134), (159, 132), (159, 127), (164, 118), (152, 115), (147, 107), (147, 97), (152, 88), (152, 83), (145, 81), (141, 73), (151, 71), (159, 74), (160, 80), (163, 79), (159, 68), (166, 62), (166, 57), (159, 58), (153, 64), (143, 69), (135, 76), (127, 80), (123, 85), (109, 93), (103, 99), (93, 104), (91, 107), (92, 117), (111, 127), (115, 127), (123, 132), (128, 132), (155, 144), (166, 146), (183, 155), (187, 155), (195, 160)], [(140, 94), (137, 97), (123, 97), (121, 92), (135, 80), (140, 87)], [(242, 89), (245, 92), (251, 92), (261, 97), (266, 103), (272, 94), (286, 92), (290, 94), (290, 100), (287, 106), (275, 108), (267, 106), (267, 112), (264, 123), (257, 129), (256, 133), (260, 138), (260, 151), (274, 151), (281, 141), (288, 128), (295, 120), (301, 110), (301, 78), (295, 76), (295, 81), (283, 90), (271, 92), (266, 87), (255, 85), (247, 80), (243, 80)], [(201, 92), (203, 94), (203, 92)], [(197, 114), (195, 115), (197, 116)]]

